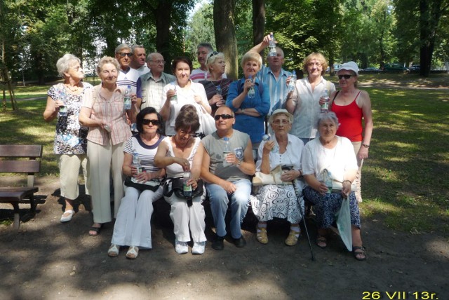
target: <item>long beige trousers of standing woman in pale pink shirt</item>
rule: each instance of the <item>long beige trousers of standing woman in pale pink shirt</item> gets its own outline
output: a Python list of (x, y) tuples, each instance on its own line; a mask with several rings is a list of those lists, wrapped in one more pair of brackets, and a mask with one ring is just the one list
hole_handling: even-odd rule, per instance
[(112, 170), (114, 182), (114, 217), (117, 217), (121, 198), (123, 198), (123, 165), (124, 142), (116, 145), (107, 141), (105, 146), (87, 142), (88, 175), (90, 177), (88, 190), (92, 198), (92, 213), (94, 223), (107, 223), (111, 217), (111, 195), (109, 191), (109, 174)]

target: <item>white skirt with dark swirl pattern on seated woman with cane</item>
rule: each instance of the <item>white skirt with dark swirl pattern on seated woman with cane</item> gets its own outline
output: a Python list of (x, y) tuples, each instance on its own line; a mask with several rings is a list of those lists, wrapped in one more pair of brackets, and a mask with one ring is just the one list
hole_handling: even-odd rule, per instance
[(291, 224), (297, 224), (302, 219), (300, 207), (304, 213), (301, 191), (299, 194), (298, 200), (293, 185), (261, 186), (256, 196), (250, 196), (251, 207), (259, 221), (269, 221), (276, 217), (287, 219)]

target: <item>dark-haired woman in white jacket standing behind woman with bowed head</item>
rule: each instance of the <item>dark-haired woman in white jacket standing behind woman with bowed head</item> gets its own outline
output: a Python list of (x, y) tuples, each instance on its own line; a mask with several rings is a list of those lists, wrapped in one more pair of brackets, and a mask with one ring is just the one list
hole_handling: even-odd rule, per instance
[[(163, 98), (161, 100), (161, 114), (163, 121), (166, 122), (166, 135), (173, 136), (176, 134), (175, 120), (180, 113), (181, 107), (186, 104), (192, 104), (198, 115), (210, 114), (211, 109), (206, 96), (206, 91), (201, 83), (195, 83), (190, 79), (192, 71), (192, 60), (188, 57), (176, 57), (171, 65), (173, 75), (176, 81), (168, 83), (163, 88)], [(200, 126), (198, 132), (202, 133), (203, 128)]]

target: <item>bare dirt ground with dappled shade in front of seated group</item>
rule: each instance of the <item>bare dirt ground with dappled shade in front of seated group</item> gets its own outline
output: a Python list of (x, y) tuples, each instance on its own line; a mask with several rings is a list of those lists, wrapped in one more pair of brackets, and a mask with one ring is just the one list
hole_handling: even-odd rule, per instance
[[(298, 245), (283, 244), (283, 221), (269, 224), (269, 243), (261, 245), (250, 213), (243, 224), (246, 247), (227, 240), (225, 250), (216, 251), (208, 242), (206, 252), (194, 256), (175, 253), (168, 205), (156, 202), (153, 249), (129, 260), (123, 248), (119, 257), (107, 256), (113, 224), (88, 236), (92, 216), (84, 196), (72, 221), (61, 224), (58, 178), (41, 177), (36, 185), (36, 216), (19, 231), (0, 226), (0, 299), (449, 299), (448, 239), (391, 231), (381, 216), (362, 219), (367, 261), (356, 261), (338, 236), (326, 250), (312, 243), (311, 261), (304, 230)], [(1, 220), (12, 219), (10, 207), (0, 206)], [(28, 207), (21, 205), (21, 214)], [(212, 240), (207, 208), (206, 236)], [(314, 220), (307, 225), (313, 241)]]

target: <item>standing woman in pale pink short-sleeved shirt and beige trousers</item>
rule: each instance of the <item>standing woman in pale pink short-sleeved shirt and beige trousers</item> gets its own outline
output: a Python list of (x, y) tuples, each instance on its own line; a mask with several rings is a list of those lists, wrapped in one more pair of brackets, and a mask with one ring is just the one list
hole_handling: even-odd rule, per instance
[(109, 173), (114, 183), (114, 217), (123, 198), (123, 146), (131, 136), (126, 119), (135, 122), (138, 108), (134, 93), (131, 109), (123, 107), (124, 89), (117, 86), (119, 68), (115, 58), (102, 57), (97, 66), (101, 83), (86, 93), (79, 111), (79, 123), (89, 128), (87, 157), (93, 213), (89, 236), (98, 236), (102, 224), (112, 221)]

